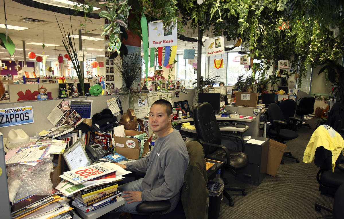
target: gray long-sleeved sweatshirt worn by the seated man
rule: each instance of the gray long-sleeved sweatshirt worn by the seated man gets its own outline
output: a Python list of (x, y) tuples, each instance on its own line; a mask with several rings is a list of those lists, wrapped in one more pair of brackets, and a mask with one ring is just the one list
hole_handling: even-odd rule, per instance
[(146, 172), (142, 181), (142, 200), (170, 200), (172, 211), (179, 201), (189, 153), (177, 130), (155, 141), (151, 153), (141, 160), (127, 163), (130, 171)]

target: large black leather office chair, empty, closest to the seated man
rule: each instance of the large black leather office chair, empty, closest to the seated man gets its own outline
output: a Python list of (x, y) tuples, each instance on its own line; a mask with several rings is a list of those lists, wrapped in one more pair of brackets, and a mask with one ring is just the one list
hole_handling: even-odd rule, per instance
[[(198, 103), (194, 107), (194, 122), (199, 142), (203, 145), (206, 158), (222, 161), (226, 163), (234, 174), (244, 168), (248, 164), (248, 156), (244, 153), (245, 144), (240, 136), (221, 134), (218, 127), (213, 107), (208, 102)], [(222, 139), (239, 140), (241, 143), (241, 151), (236, 151), (221, 145)], [(223, 178), (223, 171), (221, 172)], [(224, 196), (229, 201), (229, 206), (234, 206), (232, 197), (226, 190), (241, 191), (246, 195), (245, 188), (225, 186)]]

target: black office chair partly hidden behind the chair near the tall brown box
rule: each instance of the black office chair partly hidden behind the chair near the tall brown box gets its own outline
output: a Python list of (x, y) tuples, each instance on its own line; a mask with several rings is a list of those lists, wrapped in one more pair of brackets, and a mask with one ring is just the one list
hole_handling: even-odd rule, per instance
[(292, 99), (283, 100), (278, 105), (283, 113), (284, 121), (287, 122), (288, 128), (296, 131), (297, 123), (302, 122), (302, 120), (295, 116), (296, 102)]

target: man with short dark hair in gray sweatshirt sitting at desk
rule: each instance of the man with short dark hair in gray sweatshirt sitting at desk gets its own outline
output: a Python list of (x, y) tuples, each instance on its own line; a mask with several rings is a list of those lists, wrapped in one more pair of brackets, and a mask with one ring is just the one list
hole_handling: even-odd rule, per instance
[(172, 128), (172, 105), (167, 100), (157, 100), (149, 111), (149, 125), (159, 138), (151, 153), (141, 160), (117, 164), (130, 171), (146, 172), (144, 178), (119, 187), (126, 204), (117, 211), (137, 213), (142, 201), (169, 200), (172, 211), (179, 201), (184, 174), (189, 165), (189, 153), (180, 133)]

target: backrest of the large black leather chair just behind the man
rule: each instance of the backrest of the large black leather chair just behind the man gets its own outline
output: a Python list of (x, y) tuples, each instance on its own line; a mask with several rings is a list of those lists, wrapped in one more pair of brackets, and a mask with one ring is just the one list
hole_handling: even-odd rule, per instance
[[(197, 138), (208, 143), (221, 144), (221, 132), (212, 105), (208, 102), (198, 103), (193, 110)], [(217, 149), (209, 146), (203, 146), (203, 148), (205, 155)]]

